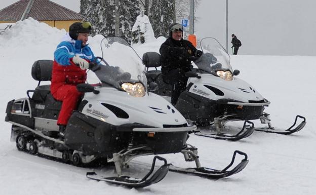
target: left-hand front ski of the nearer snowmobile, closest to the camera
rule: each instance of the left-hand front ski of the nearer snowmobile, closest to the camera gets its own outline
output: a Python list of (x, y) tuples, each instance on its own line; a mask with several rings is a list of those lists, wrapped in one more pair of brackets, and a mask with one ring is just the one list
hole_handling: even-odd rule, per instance
[[(158, 170), (156, 170), (156, 172), (153, 173), (156, 159), (164, 161), (165, 164), (161, 166)], [(146, 187), (148, 185), (157, 183), (161, 181), (162, 179), (164, 179), (164, 177), (167, 175), (169, 171), (169, 165), (170, 164), (167, 164), (166, 159), (159, 156), (155, 156), (153, 158), (150, 171), (142, 179), (132, 178), (130, 176), (125, 176), (125, 175), (114, 176), (114, 177), (102, 177), (102, 176), (97, 175), (95, 172), (88, 172), (87, 177), (89, 179), (94, 179), (97, 181), (106, 181), (108, 183), (123, 185), (127, 187), (135, 187), (135, 188)]]

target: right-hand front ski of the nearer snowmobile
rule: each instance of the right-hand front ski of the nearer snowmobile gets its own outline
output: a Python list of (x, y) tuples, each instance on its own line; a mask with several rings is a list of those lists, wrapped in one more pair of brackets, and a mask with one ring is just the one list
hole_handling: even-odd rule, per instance
[[(245, 158), (242, 160), (241, 163), (239, 163), (233, 169), (228, 171), (228, 169), (233, 165), (237, 153), (244, 155)], [(236, 173), (242, 171), (247, 166), (248, 162), (249, 161), (248, 161), (248, 157), (247, 157), (246, 153), (239, 151), (239, 150), (235, 150), (233, 153), (230, 164), (226, 168), (224, 168), (223, 170), (216, 170), (216, 169), (210, 169), (210, 168), (205, 168), (205, 167), (184, 169), (184, 168), (175, 167), (173, 165), (169, 166), (169, 170), (172, 172), (193, 174), (196, 176), (206, 177), (209, 179), (219, 179), (219, 178), (223, 178), (223, 177), (228, 177), (230, 175), (233, 175), (233, 174), (236, 174)]]

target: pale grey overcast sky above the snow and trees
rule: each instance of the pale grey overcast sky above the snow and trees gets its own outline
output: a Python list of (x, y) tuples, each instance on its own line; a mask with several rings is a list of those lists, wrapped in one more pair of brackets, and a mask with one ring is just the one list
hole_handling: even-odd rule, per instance
[[(17, 0), (1, 0), (0, 9)], [(80, 0), (51, 0), (79, 11)], [(212, 36), (225, 45), (225, 0), (201, 0), (195, 16), (198, 38)], [(240, 38), (239, 54), (316, 56), (316, 1), (228, 0), (231, 34)], [(231, 52), (231, 51), (230, 51)]]

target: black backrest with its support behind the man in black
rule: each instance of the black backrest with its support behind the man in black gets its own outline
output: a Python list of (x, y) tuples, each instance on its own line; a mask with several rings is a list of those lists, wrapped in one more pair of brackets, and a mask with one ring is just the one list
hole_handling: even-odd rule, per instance
[[(147, 67), (146, 74), (151, 78), (152, 82), (155, 82), (157, 77), (161, 74), (161, 70), (157, 70), (157, 67), (161, 66), (160, 54), (156, 52), (146, 52), (143, 55), (143, 62)], [(152, 67), (155, 68), (155, 70), (148, 70)]]

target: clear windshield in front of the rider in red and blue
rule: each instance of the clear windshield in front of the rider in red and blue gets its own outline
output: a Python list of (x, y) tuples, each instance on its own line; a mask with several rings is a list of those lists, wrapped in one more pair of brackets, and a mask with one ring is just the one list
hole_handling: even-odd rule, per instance
[[(121, 37), (105, 37), (101, 41), (102, 56), (98, 69), (94, 70), (102, 86), (125, 90), (124, 85), (133, 87), (141, 84), (146, 90), (145, 66), (134, 49)], [(126, 87), (126, 86), (125, 86)]]

